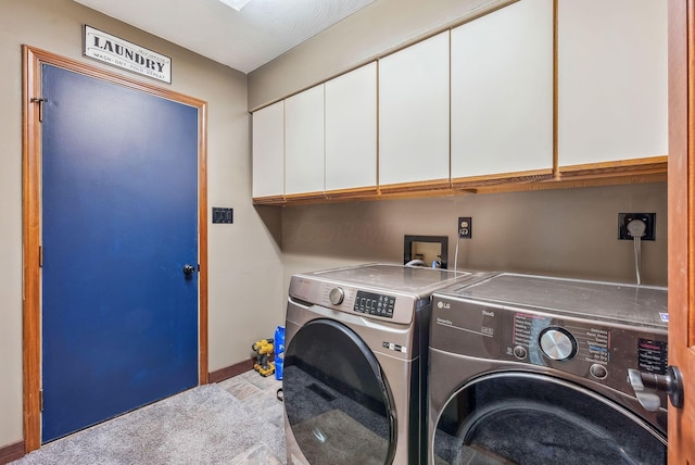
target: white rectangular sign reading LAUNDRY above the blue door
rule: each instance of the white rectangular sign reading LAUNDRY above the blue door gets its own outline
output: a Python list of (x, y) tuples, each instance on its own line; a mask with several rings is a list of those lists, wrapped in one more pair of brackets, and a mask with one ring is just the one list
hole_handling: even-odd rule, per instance
[(172, 84), (172, 59), (85, 25), (85, 56)]

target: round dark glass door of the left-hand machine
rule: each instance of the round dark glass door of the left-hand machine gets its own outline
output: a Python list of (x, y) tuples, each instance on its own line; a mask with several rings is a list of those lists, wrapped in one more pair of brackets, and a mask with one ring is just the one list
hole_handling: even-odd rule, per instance
[(307, 323), (291, 339), (282, 374), (294, 441), (312, 465), (390, 464), (393, 402), (376, 356), (346, 326)]

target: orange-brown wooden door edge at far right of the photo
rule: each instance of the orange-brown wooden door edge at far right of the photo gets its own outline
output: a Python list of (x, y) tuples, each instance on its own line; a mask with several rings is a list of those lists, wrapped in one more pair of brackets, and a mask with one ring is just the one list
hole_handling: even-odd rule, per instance
[(683, 409), (669, 404), (669, 463), (693, 461), (695, 406), (695, 0), (669, 0), (669, 364)]

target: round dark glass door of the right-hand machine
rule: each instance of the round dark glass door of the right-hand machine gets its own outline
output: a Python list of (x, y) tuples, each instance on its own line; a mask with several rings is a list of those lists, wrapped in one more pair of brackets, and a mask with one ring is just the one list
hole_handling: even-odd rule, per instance
[(527, 373), (460, 388), (440, 413), (435, 464), (666, 464), (664, 435), (578, 385)]

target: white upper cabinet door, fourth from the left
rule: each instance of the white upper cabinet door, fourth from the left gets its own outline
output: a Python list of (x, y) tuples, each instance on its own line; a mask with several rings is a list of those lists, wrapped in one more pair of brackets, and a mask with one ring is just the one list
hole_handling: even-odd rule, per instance
[(379, 61), (379, 184), (448, 179), (448, 32)]

